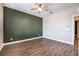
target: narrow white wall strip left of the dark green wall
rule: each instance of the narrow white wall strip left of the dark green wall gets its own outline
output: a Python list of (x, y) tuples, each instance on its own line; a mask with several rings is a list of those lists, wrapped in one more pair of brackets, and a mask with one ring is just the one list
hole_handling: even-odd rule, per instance
[(0, 4), (0, 50), (3, 45), (3, 7)]

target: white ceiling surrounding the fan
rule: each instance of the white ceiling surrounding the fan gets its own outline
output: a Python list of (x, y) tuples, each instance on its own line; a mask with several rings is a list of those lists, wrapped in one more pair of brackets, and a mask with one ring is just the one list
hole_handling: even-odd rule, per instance
[[(41, 13), (38, 13), (38, 11), (30, 10), (32, 9), (33, 4), (34, 3), (4, 3), (3, 5), (38, 17), (45, 17), (50, 14), (49, 12), (43, 11)], [(48, 3), (48, 6), (50, 11), (57, 13), (67, 8), (79, 6), (79, 3)]]

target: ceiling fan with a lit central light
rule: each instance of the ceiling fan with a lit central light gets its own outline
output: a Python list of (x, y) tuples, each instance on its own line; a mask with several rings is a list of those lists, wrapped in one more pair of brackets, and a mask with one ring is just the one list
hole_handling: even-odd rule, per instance
[(38, 13), (41, 13), (42, 11), (49, 11), (47, 3), (35, 3), (31, 10), (37, 10)]

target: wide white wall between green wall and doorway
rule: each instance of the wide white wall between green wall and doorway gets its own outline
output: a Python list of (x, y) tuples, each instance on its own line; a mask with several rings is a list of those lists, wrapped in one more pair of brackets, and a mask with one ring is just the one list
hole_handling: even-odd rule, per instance
[(73, 44), (74, 19), (72, 17), (77, 14), (77, 7), (73, 7), (44, 17), (43, 36), (53, 40)]

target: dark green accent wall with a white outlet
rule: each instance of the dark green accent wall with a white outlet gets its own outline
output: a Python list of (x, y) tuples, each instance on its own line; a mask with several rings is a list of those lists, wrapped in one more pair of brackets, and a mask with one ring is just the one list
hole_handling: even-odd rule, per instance
[(38, 36), (42, 36), (42, 18), (4, 7), (5, 43)]

